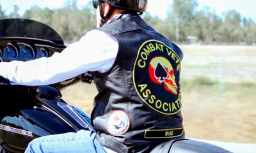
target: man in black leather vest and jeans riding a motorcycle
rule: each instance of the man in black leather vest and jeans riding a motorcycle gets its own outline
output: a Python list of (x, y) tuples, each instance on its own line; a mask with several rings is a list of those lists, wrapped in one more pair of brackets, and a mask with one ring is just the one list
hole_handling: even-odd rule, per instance
[(26, 152), (150, 152), (184, 138), (180, 94), (182, 51), (141, 17), (147, 0), (93, 0), (97, 29), (60, 54), (0, 63), (21, 85), (48, 85), (93, 75), (99, 93), (94, 131), (36, 138)]

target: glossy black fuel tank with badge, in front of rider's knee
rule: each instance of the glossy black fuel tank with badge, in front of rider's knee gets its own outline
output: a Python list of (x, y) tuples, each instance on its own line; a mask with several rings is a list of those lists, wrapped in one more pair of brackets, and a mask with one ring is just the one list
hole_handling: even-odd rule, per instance
[(75, 130), (52, 113), (24, 108), (1, 117), (0, 142), (6, 144), (6, 149), (10, 147), (21, 151), (35, 138), (71, 131)]

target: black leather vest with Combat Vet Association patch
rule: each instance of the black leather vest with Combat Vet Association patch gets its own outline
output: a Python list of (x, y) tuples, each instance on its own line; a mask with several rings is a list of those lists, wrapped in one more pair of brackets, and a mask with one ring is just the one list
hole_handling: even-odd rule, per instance
[(180, 48), (139, 15), (123, 15), (99, 30), (113, 36), (119, 49), (108, 72), (92, 72), (99, 91), (92, 112), (97, 140), (116, 152), (148, 152), (184, 138)]

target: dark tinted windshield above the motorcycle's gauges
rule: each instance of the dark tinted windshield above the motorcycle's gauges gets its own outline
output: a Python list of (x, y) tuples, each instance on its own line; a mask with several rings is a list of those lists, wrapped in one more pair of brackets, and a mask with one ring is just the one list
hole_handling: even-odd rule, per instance
[(34, 38), (48, 40), (58, 45), (64, 45), (60, 35), (51, 27), (35, 20), (24, 18), (8, 18), (0, 20), (1, 38)]

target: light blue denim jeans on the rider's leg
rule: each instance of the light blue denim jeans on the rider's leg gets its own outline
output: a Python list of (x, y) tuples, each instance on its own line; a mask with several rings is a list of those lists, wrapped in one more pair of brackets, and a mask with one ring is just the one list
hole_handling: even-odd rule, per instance
[[(80, 112), (78, 108), (75, 108), (77, 112)], [(81, 114), (84, 118), (88, 115)], [(87, 118), (86, 120), (88, 120)], [(68, 152), (68, 153), (79, 153), (79, 152), (106, 152), (103, 147), (97, 142), (96, 133), (93, 131), (80, 130), (77, 133), (64, 133), (60, 135), (49, 135), (36, 138), (29, 143), (25, 153), (33, 152)]]

